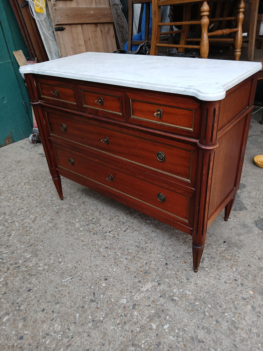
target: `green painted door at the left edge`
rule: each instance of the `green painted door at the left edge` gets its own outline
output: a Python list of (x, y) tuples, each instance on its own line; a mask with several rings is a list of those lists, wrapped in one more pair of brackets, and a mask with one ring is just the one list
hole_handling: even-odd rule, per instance
[(0, 1), (0, 147), (32, 133), (32, 109), (13, 51), (26, 52), (8, 0)]

